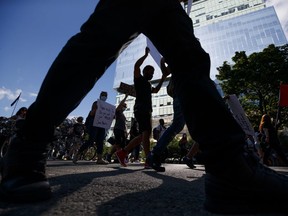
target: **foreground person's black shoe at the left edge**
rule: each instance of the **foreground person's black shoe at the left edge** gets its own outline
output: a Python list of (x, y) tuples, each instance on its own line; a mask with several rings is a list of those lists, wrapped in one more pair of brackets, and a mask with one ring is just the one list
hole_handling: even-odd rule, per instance
[(14, 138), (7, 154), (1, 159), (1, 201), (36, 202), (49, 199), (52, 195), (45, 175), (45, 151), (29, 150), (24, 142), (21, 138)]

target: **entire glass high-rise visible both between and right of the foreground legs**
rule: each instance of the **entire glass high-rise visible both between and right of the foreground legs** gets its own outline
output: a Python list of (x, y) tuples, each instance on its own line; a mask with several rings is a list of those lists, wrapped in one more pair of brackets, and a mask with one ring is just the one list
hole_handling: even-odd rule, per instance
[[(184, 5), (186, 11), (189, 5)], [(189, 13), (189, 12), (188, 12)], [(217, 67), (224, 61), (231, 62), (236, 51), (246, 51), (247, 55), (260, 52), (270, 44), (281, 46), (287, 43), (274, 7), (266, 7), (265, 0), (194, 0), (189, 13), (193, 21), (195, 35), (203, 48), (210, 54), (211, 79), (215, 79)], [(137, 37), (118, 57), (113, 88), (121, 82), (133, 85), (134, 63), (144, 54), (146, 46), (152, 47), (151, 55), (144, 62), (155, 67), (152, 85), (161, 77), (159, 54), (144, 35)], [(169, 78), (168, 78), (169, 79)], [(153, 125), (159, 118), (171, 123), (173, 117), (173, 99), (167, 95), (166, 86), (152, 96)], [(217, 81), (216, 81), (217, 84)], [(219, 89), (219, 91), (221, 91)], [(124, 95), (117, 95), (116, 105)], [(125, 115), (133, 117), (134, 97), (128, 97)]]

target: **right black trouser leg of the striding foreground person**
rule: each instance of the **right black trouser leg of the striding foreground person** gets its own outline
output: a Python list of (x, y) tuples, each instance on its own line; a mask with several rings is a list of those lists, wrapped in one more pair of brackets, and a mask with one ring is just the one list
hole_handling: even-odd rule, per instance
[(171, 67), (190, 135), (212, 161), (233, 157), (242, 151), (245, 134), (209, 77), (210, 58), (194, 36), (191, 19), (177, 1), (166, 2), (145, 34)]

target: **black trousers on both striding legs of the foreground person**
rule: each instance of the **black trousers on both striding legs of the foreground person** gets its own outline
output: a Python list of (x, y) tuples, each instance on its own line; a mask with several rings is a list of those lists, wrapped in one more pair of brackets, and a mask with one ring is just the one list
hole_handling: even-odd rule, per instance
[(245, 134), (210, 79), (209, 55), (178, 0), (100, 0), (51, 65), (27, 113), (28, 139), (51, 138), (54, 127), (140, 33), (150, 38), (169, 64), (189, 133), (211, 163), (238, 154)]

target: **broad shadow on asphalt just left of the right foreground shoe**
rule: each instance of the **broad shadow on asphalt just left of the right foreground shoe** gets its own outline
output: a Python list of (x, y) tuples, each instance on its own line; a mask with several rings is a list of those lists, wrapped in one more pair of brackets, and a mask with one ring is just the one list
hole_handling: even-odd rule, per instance
[(99, 206), (97, 215), (176, 216), (199, 215), (201, 211), (204, 211), (202, 210), (204, 177), (187, 181), (154, 171), (143, 172), (153, 178), (160, 179), (162, 184), (149, 190), (116, 197)]

